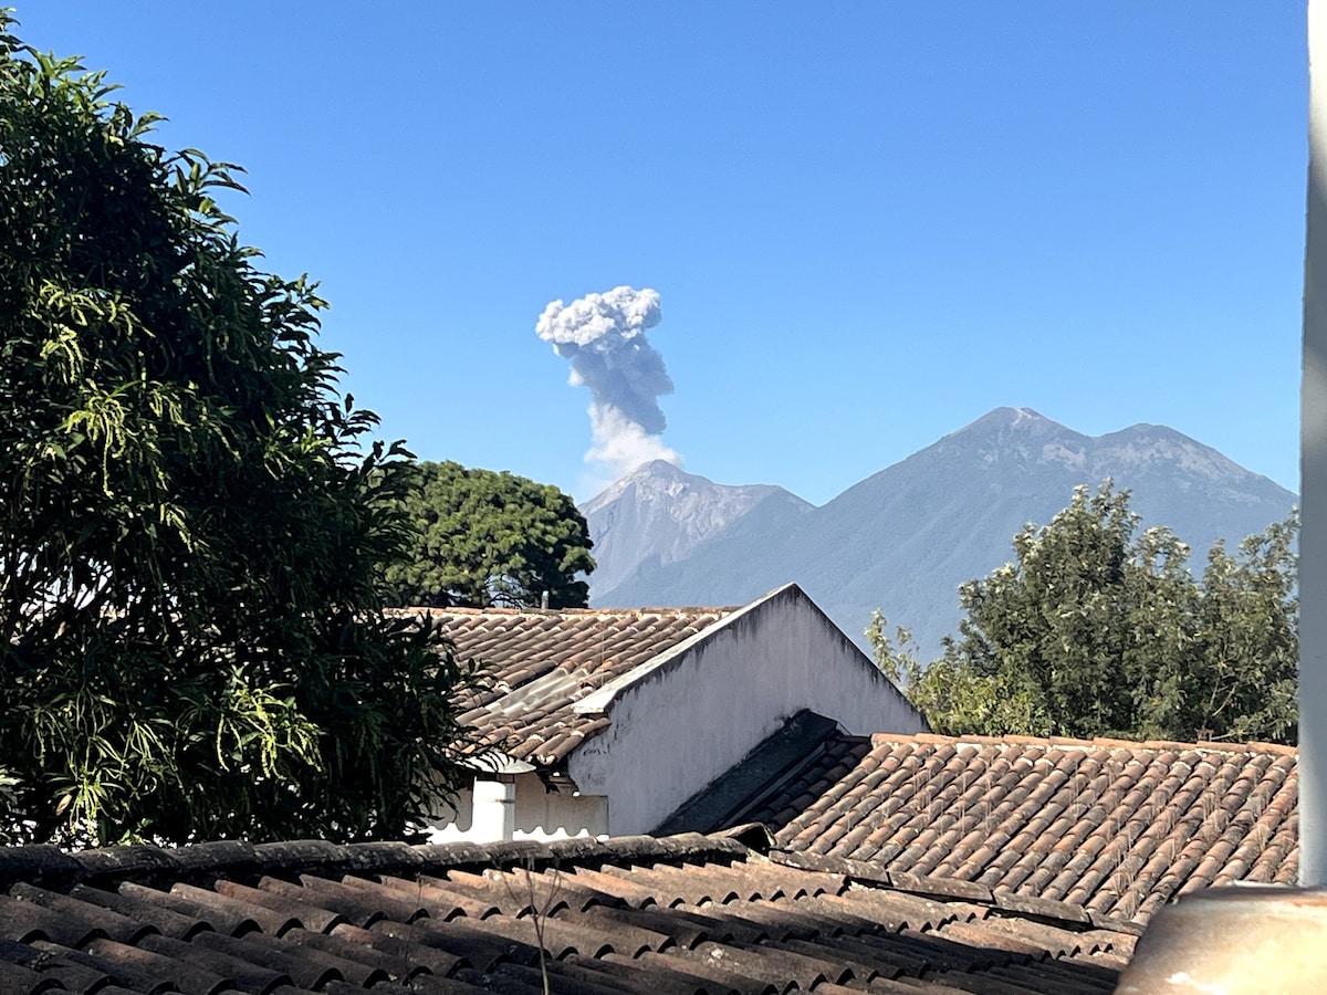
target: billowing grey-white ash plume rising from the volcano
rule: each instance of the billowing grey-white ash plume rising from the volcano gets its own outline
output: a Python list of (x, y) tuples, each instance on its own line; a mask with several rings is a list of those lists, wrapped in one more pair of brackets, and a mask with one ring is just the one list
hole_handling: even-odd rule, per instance
[(673, 381), (645, 338), (661, 317), (656, 291), (616, 287), (568, 305), (553, 301), (535, 325), (540, 338), (572, 361), (567, 382), (589, 387), (593, 444), (585, 459), (608, 464), (616, 476), (652, 459), (681, 463), (660, 438), (667, 422), (658, 398), (673, 393)]

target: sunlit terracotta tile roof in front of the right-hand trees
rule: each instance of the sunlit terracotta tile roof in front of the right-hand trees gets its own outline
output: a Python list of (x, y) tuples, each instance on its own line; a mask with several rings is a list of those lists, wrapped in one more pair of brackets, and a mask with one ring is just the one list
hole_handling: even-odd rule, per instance
[(840, 738), (752, 819), (780, 848), (1145, 922), (1174, 896), (1294, 884), (1291, 747)]

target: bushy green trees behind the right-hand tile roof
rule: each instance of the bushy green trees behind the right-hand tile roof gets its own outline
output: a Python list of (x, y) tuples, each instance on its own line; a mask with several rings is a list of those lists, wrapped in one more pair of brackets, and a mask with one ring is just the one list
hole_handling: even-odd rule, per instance
[(881, 669), (941, 732), (1294, 742), (1298, 517), (1213, 547), (1198, 582), (1129, 492), (1074, 492), (1016, 561), (959, 588), (966, 618), (922, 667), (877, 612)]

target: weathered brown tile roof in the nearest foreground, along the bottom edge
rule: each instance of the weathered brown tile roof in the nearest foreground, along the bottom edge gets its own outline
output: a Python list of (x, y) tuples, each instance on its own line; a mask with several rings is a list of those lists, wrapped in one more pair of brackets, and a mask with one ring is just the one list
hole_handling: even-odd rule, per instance
[(0, 991), (1108, 992), (1140, 933), (796, 860), (698, 834), (0, 850)]

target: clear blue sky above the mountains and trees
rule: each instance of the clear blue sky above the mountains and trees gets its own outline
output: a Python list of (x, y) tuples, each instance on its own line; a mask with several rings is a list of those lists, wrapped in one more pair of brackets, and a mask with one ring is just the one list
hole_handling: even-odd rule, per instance
[(664, 443), (823, 503), (999, 405), (1298, 490), (1302, 4), (15, 0), (332, 302), (427, 459), (579, 499), (555, 298), (653, 288)]

